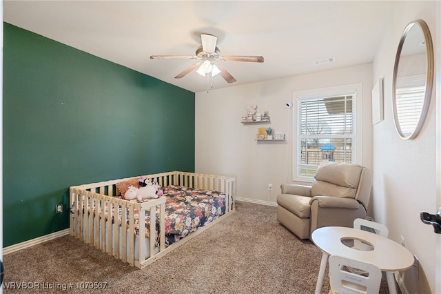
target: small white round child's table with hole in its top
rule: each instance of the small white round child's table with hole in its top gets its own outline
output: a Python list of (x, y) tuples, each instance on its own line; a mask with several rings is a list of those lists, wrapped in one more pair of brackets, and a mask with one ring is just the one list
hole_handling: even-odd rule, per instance
[[(351, 239), (371, 245), (370, 251), (356, 249), (344, 244), (350, 243)], [(386, 272), (389, 293), (396, 293), (393, 272), (404, 271), (413, 265), (413, 255), (407, 248), (387, 237), (362, 231), (358, 228), (325, 226), (312, 232), (311, 240), (322, 251), (316, 294), (321, 292), (329, 255), (340, 255), (349, 259), (375, 264), (381, 271)]]

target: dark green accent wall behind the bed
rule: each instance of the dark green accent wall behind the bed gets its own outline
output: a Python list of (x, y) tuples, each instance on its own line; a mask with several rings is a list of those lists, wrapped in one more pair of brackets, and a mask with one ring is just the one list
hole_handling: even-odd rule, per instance
[(3, 246), (68, 228), (70, 186), (194, 172), (194, 92), (3, 30)]

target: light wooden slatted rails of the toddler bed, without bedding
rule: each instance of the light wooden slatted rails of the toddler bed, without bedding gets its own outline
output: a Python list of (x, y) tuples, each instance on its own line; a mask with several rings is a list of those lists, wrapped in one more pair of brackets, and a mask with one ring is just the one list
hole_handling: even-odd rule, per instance
[[(197, 231), (189, 233), (178, 242), (166, 246), (166, 197), (149, 199), (145, 202), (122, 199), (118, 197), (121, 192), (117, 184), (139, 177), (114, 179), (70, 187), (70, 235), (92, 244), (123, 262), (143, 268), (235, 210), (235, 177), (180, 171), (144, 175), (144, 177), (163, 187), (175, 185), (221, 192), (225, 194), (225, 214), (201, 226)], [(146, 228), (142, 225), (142, 220), (149, 216), (150, 226), (146, 223)]]

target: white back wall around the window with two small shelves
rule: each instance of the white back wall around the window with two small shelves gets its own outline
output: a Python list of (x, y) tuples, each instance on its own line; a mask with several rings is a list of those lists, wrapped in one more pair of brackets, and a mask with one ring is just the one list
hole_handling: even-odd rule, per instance
[[(275, 205), (280, 184), (291, 179), (292, 109), (286, 101), (294, 91), (356, 83), (362, 83), (363, 96), (362, 164), (370, 167), (372, 66), (365, 64), (196, 93), (196, 172), (234, 175), (238, 197)], [(268, 110), (271, 124), (242, 124), (249, 104)], [(262, 126), (284, 130), (287, 141), (255, 141)]]

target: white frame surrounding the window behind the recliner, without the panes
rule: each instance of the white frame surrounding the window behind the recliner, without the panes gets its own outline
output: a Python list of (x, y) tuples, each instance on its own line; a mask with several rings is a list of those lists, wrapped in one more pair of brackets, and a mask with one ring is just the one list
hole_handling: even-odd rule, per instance
[(300, 129), (298, 125), (298, 106), (299, 100), (321, 99), (325, 97), (347, 96), (355, 93), (353, 97), (353, 148), (352, 162), (361, 164), (362, 162), (362, 84), (348, 84), (343, 86), (335, 86), (328, 88), (318, 88), (311, 90), (300, 90), (293, 92), (293, 120), (292, 120), (292, 136), (295, 138), (292, 144), (292, 181), (293, 182), (312, 182), (314, 177), (298, 174), (298, 165), (300, 159), (301, 140)]

